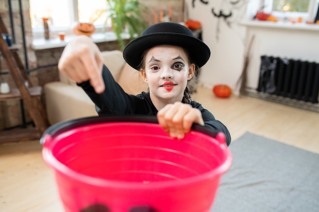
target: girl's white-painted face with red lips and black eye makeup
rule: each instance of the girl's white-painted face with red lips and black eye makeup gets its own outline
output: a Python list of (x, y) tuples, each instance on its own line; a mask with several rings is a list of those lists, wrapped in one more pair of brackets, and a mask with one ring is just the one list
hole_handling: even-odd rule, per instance
[(144, 58), (145, 69), (141, 70), (148, 83), (150, 97), (157, 109), (166, 104), (181, 101), (187, 81), (193, 77), (195, 66), (189, 66), (183, 48), (159, 45), (151, 48)]

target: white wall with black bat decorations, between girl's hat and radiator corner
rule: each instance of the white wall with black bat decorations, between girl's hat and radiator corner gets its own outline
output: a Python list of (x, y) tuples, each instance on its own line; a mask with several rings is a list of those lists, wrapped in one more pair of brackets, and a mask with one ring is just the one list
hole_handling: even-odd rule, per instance
[[(239, 5), (240, 9), (231, 6), (230, 0), (207, 1), (205, 5), (201, 1), (185, 0), (189, 8), (189, 19), (198, 20), (202, 24), (203, 41), (209, 46), (211, 56), (207, 64), (201, 69), (200, 81), (204, 85), (212, 87), (215, 84), (235, 84), (242, 72), (245, 53), (245, 27), (239, 22), (246, 17), (245, 5)], [(245, 2), (245, 1), (242, 1)], [(224, 14), (232, 11), (232, 16), (227, 19), (215, 17), (211, 10), (216, 13), (222, 10)]]

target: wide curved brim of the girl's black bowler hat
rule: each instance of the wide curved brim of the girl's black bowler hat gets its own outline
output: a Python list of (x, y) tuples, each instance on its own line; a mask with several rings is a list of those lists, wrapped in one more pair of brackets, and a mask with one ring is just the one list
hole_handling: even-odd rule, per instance
[(165, 44), (186, 49), (198, 67), (204, 66), (210, 57), (209, 47), (200, 39), (177, 33), (152, 33), (138, 37), (125, 46), (123, 57), (128, 65), (138, 70), (145, 50)]

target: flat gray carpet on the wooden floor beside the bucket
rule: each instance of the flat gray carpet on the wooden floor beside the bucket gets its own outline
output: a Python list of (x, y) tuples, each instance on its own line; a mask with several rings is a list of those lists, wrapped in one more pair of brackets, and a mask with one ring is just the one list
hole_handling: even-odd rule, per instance
[[(319, 141), (317, 141), (319, 142)], [(319, 155), (246, 133), (211, 212), (319, 211)]]

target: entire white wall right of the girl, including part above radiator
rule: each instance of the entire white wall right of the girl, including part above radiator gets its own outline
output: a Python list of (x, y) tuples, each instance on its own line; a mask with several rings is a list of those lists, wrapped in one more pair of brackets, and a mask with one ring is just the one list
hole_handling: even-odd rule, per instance
[[(255, 35), (252, 57), (248, 69), (248, 86), (257, 87), (260, 56), (263, 54), (300, 58), (319, 62), (319, 29), (304, 30), (283, 27), (246, 27), (241, 22), (254, 15), (259, 9), (258, 1), (250, 2), (246, 7), (236, 9), (231, 6), (231, 0), (195, 1), (195, 8), (191, 0), (188, 3), (189, 19), (198, 20), (203, 26), (203, 41), (211, 50), (211, 57), (202, 68), (200, 80), (204, 85), (212, 87), (215, 84), (225, 83), (235, 88), (236, 82), (243, 69), (246, 46), (251, 35)], [(214, 17), (211, 9), (219, 13), (222, 10), (227, 14), (233, 12), (231, 25), (223, 19)], [(246, 12), (249, 11), (249, 12)], [(252, 12), (253, 11), (253, 12)], [(219, 24), (219, 25), (218, 25)], [(275, 23), (274, 23), (275, 24)], [(317, 26), (319, 28), (319, 26)], [(219, 32), (219, 33), (218, 33)], [(219, 39), (217, 39), (219, 36)], [(237, 90), (235, 90), (237, 92)]]

